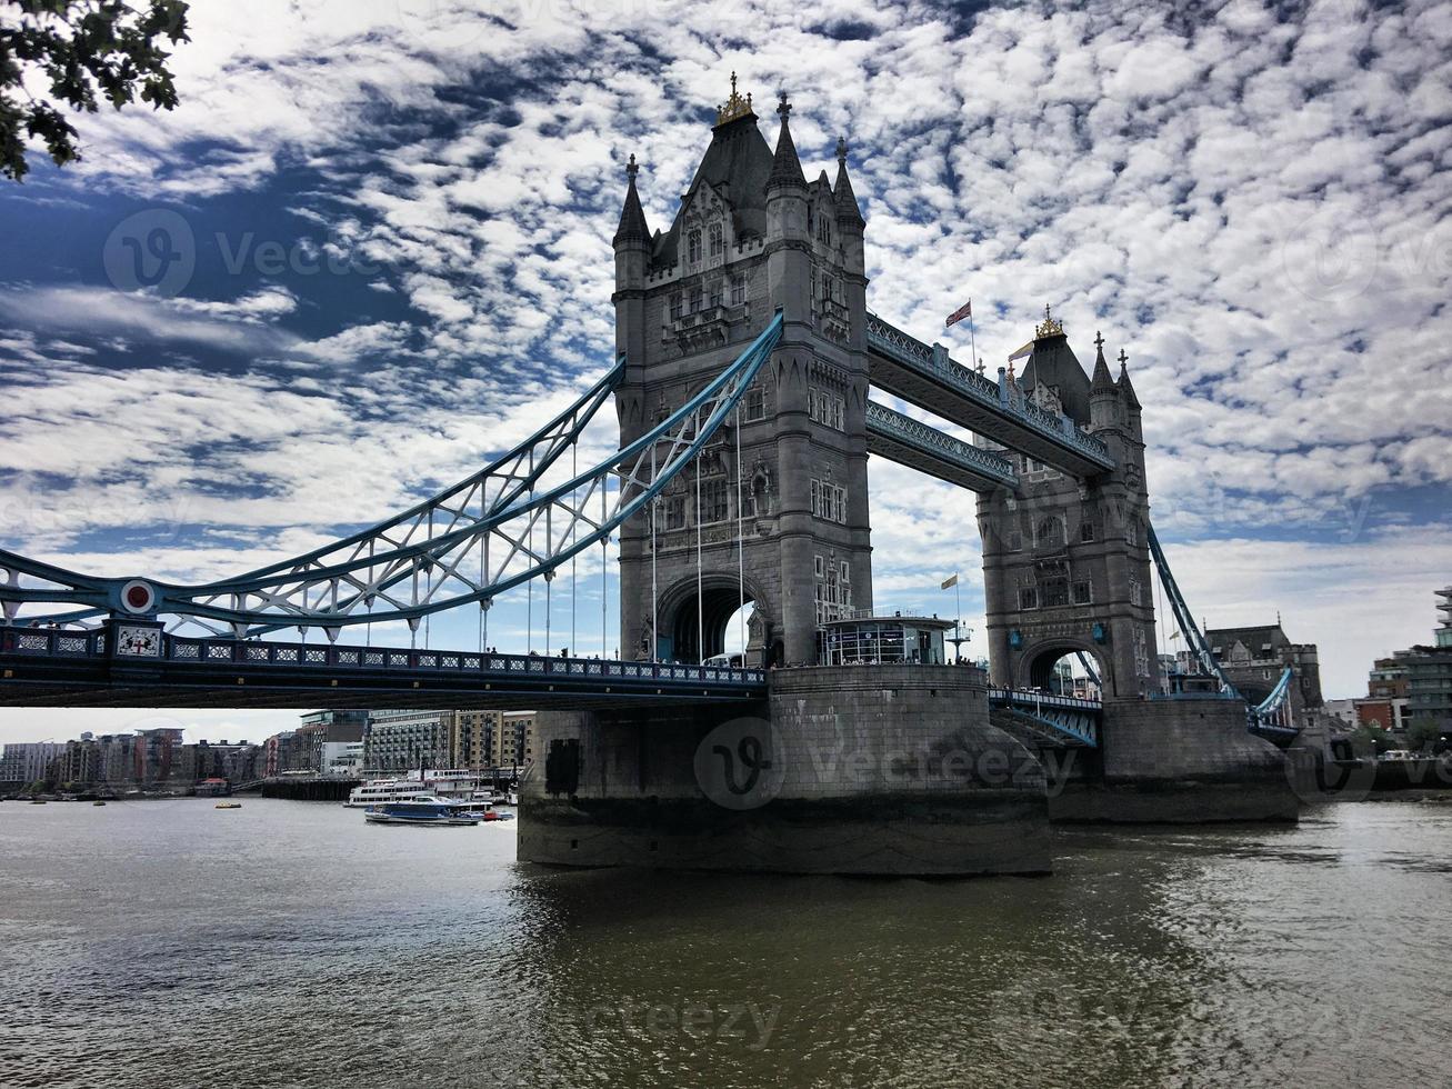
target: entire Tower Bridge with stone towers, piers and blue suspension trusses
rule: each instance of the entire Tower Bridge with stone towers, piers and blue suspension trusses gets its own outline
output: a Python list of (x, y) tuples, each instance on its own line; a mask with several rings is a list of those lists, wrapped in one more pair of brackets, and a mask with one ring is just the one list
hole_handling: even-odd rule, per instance
[[(1050, 815), (1294, 817), (1265, 741), (1295, 735), (1289, 684), (1249, 707), (1179, 594), (1125, 353), (1115, 378), (1096, 335), (1086, 373), (1045, 308), (1022, 373), (995, 382), (871, 314), (847, 142), (835, 179), (809, 182), (790, 113), (783, 96), (768, 144), (733, 78), (665, 231), (630, 158), (616, 366), (453, 488), (203, 585), (0, 552), (0, 703), (539, 707), (549, 758), (520, 857), (559, 864), (1024, 873), (1048, 868)], [(581, 469), (607, 402), (619, 449)], [(926, 621), (881, 652), (870, 454), (976, 495), (990, 677), (947, 664)], [(547, 624), (558, 576), (594, 549), (605, 578), (619, 565), (619, 659), (486, 645), (501, 594), (539, 588)], [(1199, 664), (1172, 694), (1156, 574)], [(723, 664), (746, 605), (745, 661)], [(346, 635), (460, 608), (476, 649)], [(878, 653), (828, 659), (822, 633), (858, 619)], [(321, 637), (282, 639), (293, 627)], [(1101, 701), (1045, 697), (1066, 655)]]

